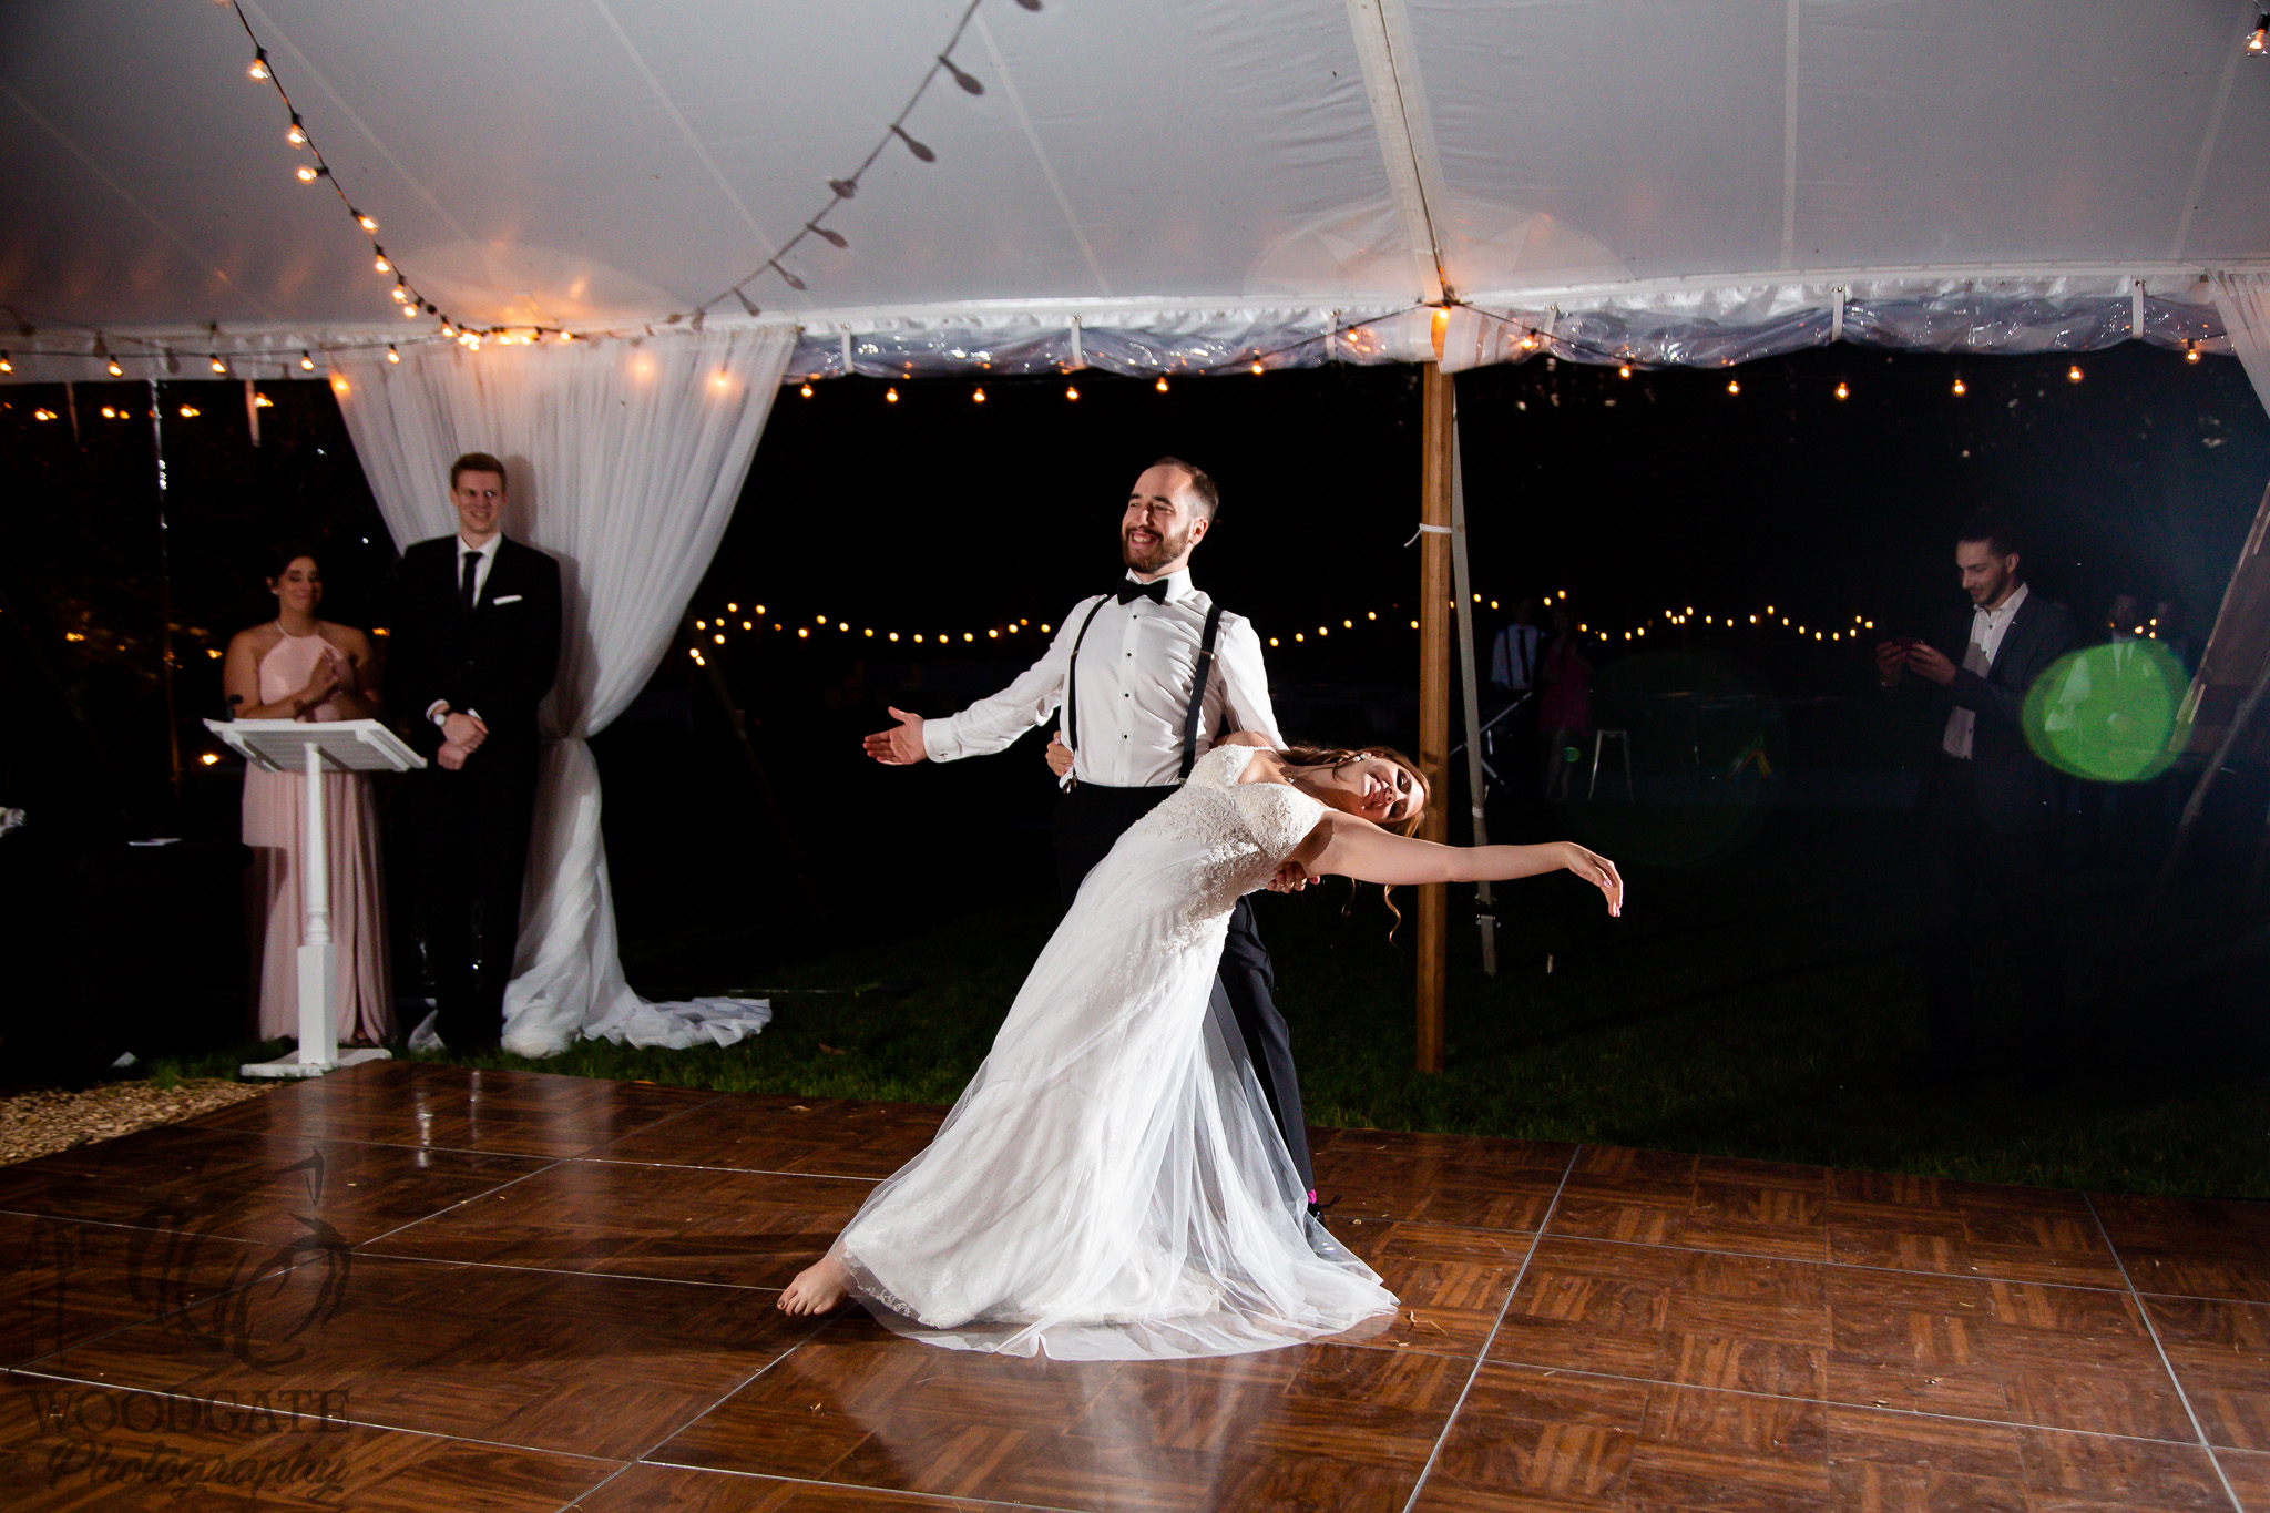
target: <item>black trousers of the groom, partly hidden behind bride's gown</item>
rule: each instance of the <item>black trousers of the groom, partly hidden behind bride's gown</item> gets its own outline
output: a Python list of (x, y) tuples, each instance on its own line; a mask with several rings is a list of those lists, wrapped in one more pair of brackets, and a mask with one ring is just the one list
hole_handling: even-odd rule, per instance
[[(1174, 787), (1101, 787), (1081, 783), (1056, 805), (1056, 885), (1071, 907), (1081, 880), (1119, 842), (1128, 826), (1155, 810)], [(1276, 1007), (1276, 969), (1253, 923), (1253, 901), (1239, 898), (1230, 912), (1230, 935), (1221, 946), (1210, 1012), (1230, 1048), (1244, 1046), (1253, 1077), (1262, 1084), (1269, 1114), (1278, 1121), (1301, 1186), (1314, 1189), (1308, 1159), (1308, 1123), (1301, 1116), (1301, 1073), (1292, 1064), (1292, 1032)]]

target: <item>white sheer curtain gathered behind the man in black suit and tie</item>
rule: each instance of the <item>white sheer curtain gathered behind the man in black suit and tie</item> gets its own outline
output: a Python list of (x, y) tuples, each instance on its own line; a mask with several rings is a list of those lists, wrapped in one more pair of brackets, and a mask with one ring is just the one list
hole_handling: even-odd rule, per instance
[(506, 533), (561, 563), (565, 633), (545, 701), (520, 950), (504, 1048), (554, 1055), (579, 1034), (731, 1046), (756, 1000), (654, 1005), (622, 975), (586, 739), (638, 694), (708, 569), (779, 392), (794, 331), (334, 358), (334, 392), (397, 547), (456, 529), (449, 463), (490, 451), (511, 474)]

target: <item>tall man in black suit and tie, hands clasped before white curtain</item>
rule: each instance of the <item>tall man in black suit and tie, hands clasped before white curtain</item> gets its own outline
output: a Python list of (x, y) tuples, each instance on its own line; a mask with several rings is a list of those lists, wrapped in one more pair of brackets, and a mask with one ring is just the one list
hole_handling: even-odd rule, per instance
[(388, 703), (429, 767), (413, 778), (415, 876), (452, 1050), (493, 1048), (520, 937), (536, 808), (536, 705), (561, 656), (561, 567), (504, 535), (504, 463), (449, 465), (456, 535), (402, 553)]

